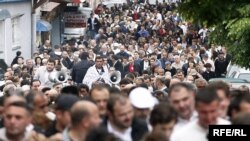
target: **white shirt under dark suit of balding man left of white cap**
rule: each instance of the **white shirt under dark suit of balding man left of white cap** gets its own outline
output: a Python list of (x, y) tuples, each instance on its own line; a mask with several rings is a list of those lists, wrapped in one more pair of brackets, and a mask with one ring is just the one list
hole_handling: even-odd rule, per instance
[(132, 132), (132, 128), (129, 127), (128, 129), (126, 129), (123, 133), (116, 131), (111, 123), (108, 121), (108, 132), (109, 133), (113, 133), (115, 136), (117, 136), (118, 138), (120, 138), (123, 141), (133, 141), (132, 137), (131, 137), (131, 132)]

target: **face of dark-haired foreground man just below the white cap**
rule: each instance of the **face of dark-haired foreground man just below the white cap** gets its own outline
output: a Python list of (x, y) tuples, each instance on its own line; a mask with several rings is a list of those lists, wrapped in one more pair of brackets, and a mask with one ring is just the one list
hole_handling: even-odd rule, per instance
[(153, 127), (153, 132), (164, 132), (165, 135), (170, 138), (173, 129), (174, 129), (174, 125), (175, 125), (176, 121), (172, 120), (169, 123), (163, 123), (163, 124), (156, 124)]

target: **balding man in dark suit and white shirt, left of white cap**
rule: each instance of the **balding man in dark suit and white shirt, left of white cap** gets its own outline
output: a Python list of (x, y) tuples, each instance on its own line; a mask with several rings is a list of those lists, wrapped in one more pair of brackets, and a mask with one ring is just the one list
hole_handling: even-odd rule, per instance
[(139, 141), (148, 132), (146, 122), (134, 118), (134, 110), (128, 97), (114, 94), (107, 103), (108, 116), (102, 127), (124, 141)]

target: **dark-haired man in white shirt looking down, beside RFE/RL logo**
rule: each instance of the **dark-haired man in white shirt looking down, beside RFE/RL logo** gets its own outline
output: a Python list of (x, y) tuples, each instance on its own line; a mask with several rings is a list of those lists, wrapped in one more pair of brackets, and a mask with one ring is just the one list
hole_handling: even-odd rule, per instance
[(204, 88), (196, 94), (195, 108), (198, 119), (192, 121), (172, 136), (172, 141), (208, 141), (209, 125), (229, 125), (230, 122), (219, 118), (219, 97), (213, 88)]

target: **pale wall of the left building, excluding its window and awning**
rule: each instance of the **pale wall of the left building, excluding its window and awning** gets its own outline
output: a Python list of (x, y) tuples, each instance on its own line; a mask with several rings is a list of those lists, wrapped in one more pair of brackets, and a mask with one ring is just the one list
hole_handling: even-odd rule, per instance
[(31, 58), (31, 2), (1, 3), (0, 9), (7, 9), (12, 17), (20, 16), (20, 46), (12, 43), (11, 18), (0, 21), (0, 58), (10, 65), (18, 50), (24, 59)]

